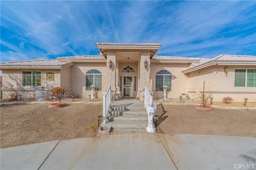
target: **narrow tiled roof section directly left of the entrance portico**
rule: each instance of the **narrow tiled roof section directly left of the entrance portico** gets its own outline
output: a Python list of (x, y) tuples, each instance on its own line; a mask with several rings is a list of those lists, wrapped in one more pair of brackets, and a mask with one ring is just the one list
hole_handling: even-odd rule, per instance
[(106, 58), (103, 55), (80, 55), (80, 56), (67, 56), (67, 57), (58, 57), (57, 60), (61, 62), (106, 62)]

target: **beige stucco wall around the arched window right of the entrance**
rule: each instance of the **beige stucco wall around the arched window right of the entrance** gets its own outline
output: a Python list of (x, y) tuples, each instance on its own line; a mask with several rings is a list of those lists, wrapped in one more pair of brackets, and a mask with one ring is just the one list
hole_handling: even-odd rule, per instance
[(188, 77), (182, 73), (189, 67), (187, 63), (153, 63), (150, 66), (150, 81), (152, 82), (153, 92), (157, 97), (163, 94), (163, 91), (155, 91), (156, 88), (156, 73), (160, 70), (167, 70), (172, 74), (172, 90), (167, 91), (168, 98), (179, 98), (181, 94), (188, 92)]

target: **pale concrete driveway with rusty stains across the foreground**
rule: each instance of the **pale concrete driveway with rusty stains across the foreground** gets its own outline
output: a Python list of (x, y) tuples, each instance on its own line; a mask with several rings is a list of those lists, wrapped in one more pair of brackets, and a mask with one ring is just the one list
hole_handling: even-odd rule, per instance
[(1, 149), (1, 169), (236, 169), (255, 158), (255, 138), (130, 133)]

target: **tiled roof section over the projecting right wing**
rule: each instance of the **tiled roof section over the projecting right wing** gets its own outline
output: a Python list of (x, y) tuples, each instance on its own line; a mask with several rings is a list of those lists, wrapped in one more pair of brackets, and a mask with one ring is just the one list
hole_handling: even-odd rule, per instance
[(195, 70), (202, 69), (207, 66), (220, 64), (220, 65), (255, 65), (256, 66), (256, 56), (249, 55), (219, 55), (212, 59), (205, 59), (204, 62), (199, 62), (193, 67), (182, 71), (182, 73), (189, 73)]

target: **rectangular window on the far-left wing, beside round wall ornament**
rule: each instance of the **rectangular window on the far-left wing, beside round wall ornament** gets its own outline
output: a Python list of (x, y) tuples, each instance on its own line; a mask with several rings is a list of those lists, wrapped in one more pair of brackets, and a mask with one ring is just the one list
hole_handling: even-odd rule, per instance
[(41, 71), (22, 71), (22, 86), (41, 86)]

